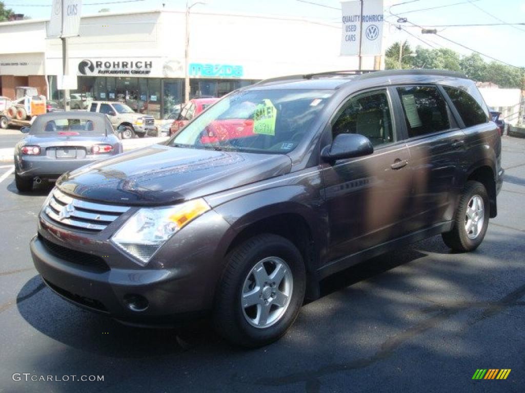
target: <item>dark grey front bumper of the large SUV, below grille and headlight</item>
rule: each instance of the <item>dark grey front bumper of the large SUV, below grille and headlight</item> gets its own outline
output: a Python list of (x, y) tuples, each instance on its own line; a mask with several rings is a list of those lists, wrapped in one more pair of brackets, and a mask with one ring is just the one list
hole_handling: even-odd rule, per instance
[[(192, 222), (197, 224), (193, 228), (183, 228), (146, 267), (136, 265), (109, 241), (99, 241), (106, 230), (98, 236), (72, 233), (43, 215), (39, 234), (30, 242), (31, 256), (46, 284), (67, 300), (134, 325), (170, 325), (181, 316), (212, 308), (223, 268), (217, 260), (222, 253), (216, 248), (217, 235), (228, 228), (217, 213), (208, 212)], [(195, 243), (198, 232), (205, 232), (198, 236), (200, 244)], [(182, 236), (175, 243), (177, 235)], [(210, 242), (214, 237), (217, 242)], [(130, 306), (138, 297), (146, 300), (145, 309)]]

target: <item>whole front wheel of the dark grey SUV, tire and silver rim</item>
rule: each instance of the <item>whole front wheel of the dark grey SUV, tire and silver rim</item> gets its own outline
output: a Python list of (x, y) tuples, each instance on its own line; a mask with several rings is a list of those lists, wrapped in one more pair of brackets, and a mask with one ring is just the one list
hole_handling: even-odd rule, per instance
[(270, 344), (297, 318), (305, 290), (297, 247), (281, 236), (255, 236), (228, 255), (216, 293), (215, 328), (235, 345)]

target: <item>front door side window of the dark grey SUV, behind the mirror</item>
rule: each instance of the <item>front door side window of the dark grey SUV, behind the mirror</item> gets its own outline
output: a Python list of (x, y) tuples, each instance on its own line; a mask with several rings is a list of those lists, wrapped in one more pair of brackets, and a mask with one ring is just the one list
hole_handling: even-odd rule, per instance
[(352, 97), (332, 126), (332, 137), (339, 134), (361, 134), (374, 146), (392, 142), (392, 117), (384, 91)]

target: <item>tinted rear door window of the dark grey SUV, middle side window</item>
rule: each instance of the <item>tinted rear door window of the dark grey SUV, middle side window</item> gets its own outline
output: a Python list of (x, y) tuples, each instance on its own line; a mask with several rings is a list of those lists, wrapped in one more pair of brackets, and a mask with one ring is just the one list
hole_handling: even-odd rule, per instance
[(408, 137), (450, 128), (448, 107), (434, 86), (397, 88), (405, 114)]

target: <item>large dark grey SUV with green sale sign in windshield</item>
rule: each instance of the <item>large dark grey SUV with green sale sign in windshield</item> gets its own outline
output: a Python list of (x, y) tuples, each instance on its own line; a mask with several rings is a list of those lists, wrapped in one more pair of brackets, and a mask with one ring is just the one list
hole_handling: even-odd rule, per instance
[(478, 247), (500, 152), (456, 73), (267, 80), (165, 145), (62, 176), (31, 253), (51, 289), (90, 310), (139, 325), (208, 313), (230, 342), (265, 345), (329, 275), (437, 234)]

